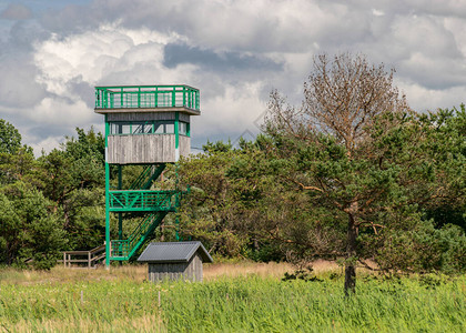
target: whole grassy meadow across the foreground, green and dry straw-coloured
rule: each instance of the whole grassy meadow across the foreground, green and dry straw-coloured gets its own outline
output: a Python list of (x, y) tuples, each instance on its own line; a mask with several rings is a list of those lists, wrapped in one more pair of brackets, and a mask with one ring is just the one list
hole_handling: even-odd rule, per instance
[[(204, 283), (145, 281), (145, 266), (0, 271), (0, 332), (466, 332), (466, 278), (362, 274), (345, 297), (340, 270), (281, 281), (284, 264), (217, 264)], [(331, 279), (332, 278), (332, 279)]]

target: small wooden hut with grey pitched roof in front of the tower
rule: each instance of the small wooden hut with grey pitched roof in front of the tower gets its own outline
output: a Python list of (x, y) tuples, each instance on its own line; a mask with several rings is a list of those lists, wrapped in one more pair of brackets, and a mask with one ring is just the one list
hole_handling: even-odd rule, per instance
[(202, 263), (213, 262), (201, 242), (152, 242), (138, 258), (149, 264), (149, 280), (202, 281)]

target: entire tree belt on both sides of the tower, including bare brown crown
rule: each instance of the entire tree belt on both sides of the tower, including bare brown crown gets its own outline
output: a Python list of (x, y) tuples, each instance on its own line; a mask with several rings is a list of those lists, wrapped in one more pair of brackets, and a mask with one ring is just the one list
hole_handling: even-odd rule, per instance
[[(350, 289), (356, 264), (387, 274), (465, 272), (465, 105), (416, 113), (393, 73), (363, 56), (316, 57), (301, 107), (273, 91), (254, 141), (207, 142), (164, 170), (153, 189), (190, 186), (190, 194), (154, 238), (302, 266), (337, 260)], [(123, 188), (142, 168), (125, 165)], [(36, 159), (1, 120), (0, 203), (1, 263), (48, 269), (60, 251), (101, 245), (103, 135), (77, 129)], [(138, 214), (124, 218), (122, 236)]]

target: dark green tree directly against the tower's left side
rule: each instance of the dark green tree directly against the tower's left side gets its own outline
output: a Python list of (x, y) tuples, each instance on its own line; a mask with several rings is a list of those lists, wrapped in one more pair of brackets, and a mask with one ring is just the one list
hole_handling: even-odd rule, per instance
[(39, 159), (43, 194), (63, 216), (71, 249), (101, 244), (104, 232), (104, 138), (93, 129), (77, 129), (61, 149)]

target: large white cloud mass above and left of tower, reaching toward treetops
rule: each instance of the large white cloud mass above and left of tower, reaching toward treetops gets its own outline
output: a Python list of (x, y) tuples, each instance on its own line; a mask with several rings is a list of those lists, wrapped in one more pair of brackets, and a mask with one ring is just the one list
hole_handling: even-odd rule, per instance
[[(45, 94), (36, 101), (33, 108), (17, 112), (41, 128), (62, 127), (63, 135), (72, 134), (70, 131), (75, 127), (89, 128), (100, 123), (101, 117), (89, 105), (89, 100), (93, 102), (93, 85), (170, 83), (192, 75), (193, 67), (190, 64), (173, 70), (162, 65), (164, 44), (178, 39), (175, 34), (118, 26), (102, 26), (97, 31), (65, 38), (52, 34), (34, 46), (33, 63), (38, 70), (32, 78), (36, 80), (31, 82), (44, 87)], [(89, 89), (82, 92), (75, 84), (84, 84)], [(40, 141), (29, 142), (38, 154), (41, 144), (49, 151), (58, 145), (57, 138), (60, 137), (44, 140), (37, 135), (26, 138)]]

